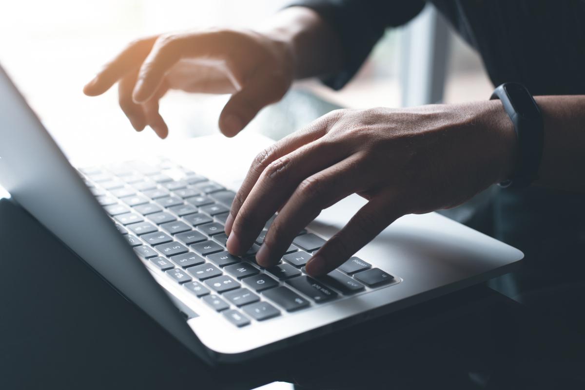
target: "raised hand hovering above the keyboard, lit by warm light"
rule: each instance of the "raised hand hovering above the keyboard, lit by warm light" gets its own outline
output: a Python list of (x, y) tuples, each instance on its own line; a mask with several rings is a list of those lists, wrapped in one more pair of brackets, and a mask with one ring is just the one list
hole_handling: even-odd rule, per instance
[(294, 78), (294, 55), (282, 40), (252, 30), (209, 29), (133, 41), (84, 87), (97, 96), (118, 82), (119, 104), (137, 131), (150, 126), (161, 138), (168, 127), (159, 99), (169, 89), (232, 93), (219, 128), (233, 137)]

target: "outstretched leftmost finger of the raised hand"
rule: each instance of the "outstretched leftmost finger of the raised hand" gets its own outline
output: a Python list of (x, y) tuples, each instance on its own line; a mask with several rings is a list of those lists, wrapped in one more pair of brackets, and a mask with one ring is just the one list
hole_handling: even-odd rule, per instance
[(102, 70), (85, 85), (83, 89), (85, 95), (101, 95), (128, 72), (139, 68), (150, 53), (156, 38), (156, 36), (147, 37), (130, 43), (112, 61), (104, 65)]

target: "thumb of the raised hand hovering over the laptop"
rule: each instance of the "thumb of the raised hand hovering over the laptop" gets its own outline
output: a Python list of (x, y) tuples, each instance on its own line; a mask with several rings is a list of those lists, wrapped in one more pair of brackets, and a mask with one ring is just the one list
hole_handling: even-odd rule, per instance
[(254, 76), (223, 107), (219, 130), (226, 137), (238, 134), (261, 109), (282, 99), (289, 86), (283, 76)]

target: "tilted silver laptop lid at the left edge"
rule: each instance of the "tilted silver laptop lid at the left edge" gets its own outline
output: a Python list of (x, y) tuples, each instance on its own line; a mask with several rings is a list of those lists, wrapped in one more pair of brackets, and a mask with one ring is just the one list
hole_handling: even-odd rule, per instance
[(1, 66), (0, 183), (119, 292), (189, 349), (209, 356)]

